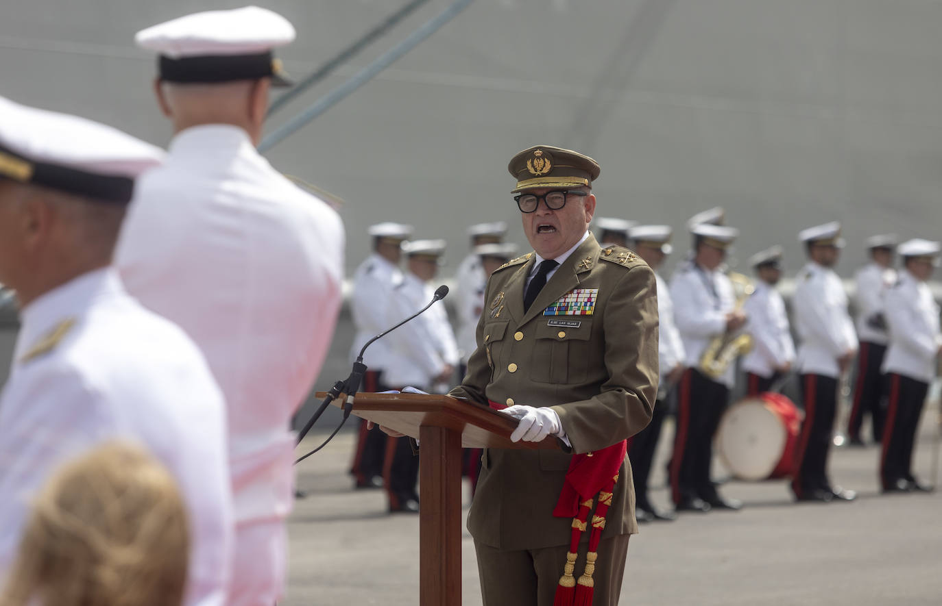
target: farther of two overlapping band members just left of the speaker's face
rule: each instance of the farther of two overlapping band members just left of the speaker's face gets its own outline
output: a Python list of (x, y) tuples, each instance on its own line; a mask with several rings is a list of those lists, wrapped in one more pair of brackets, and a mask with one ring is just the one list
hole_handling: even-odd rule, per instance
[(507, 233), (507, 223), (478, 223), (468, 228), (471, 237), (471, 252), (458, 264), (455, 272), (455, 282), (452, 300), (455, 301), (456, 320), (458, 321), (458, 350), (461, 352), (461, 365), (459, 374), (464, 376), (468, 357), (478, 346), (475, 333), (480, 319), (479, 298), (484, 295), (484, 286), (487, 284), (489, 273), (484, 271), (477, 247), (489, 244), (499, 244)]

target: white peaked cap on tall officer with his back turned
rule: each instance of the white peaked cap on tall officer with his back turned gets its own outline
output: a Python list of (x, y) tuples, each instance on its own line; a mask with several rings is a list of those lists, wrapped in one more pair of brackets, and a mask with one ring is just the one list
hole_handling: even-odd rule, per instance
[(206, 10), (140, 30), (138, 46), (159, 54), (160, 78), (178, 83), (219, 83), (271, 77), (290, 82), (271, 49), (295, 39), (295, 28), (268, 8)]

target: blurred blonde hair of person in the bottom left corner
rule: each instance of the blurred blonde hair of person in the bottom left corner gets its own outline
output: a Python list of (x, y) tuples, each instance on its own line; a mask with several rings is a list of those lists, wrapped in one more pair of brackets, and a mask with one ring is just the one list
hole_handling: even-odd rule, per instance
[(183, 601), (187, 513), (171, 474), (108, 442), (42, 487), (0, 606), (167, 606)]

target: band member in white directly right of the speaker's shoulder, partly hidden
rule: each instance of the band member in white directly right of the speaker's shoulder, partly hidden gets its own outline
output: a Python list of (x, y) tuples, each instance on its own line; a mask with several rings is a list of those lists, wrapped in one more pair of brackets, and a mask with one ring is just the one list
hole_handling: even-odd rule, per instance
[(654, 270), (658, 282), (658, 400), (655, 402), (651, 423), (635, 435), (628, 449), (631, 460), (631, 474), (635, 483), (635, 518), (638, 521), (671, 520), (676, 518), (673, 512), (655, 507), (648, 498), (648, 477), (655, 454), (658, 452), (660, 429), (667, 416), (668, 397), (674, 391), (674, 385), (684, 374), (686, 355), (684, 343), (674, 324), (674, 302), (667, 282), (660, 277), (658, 269), (664, 259), (674, 250), (671, 246), (673, 230), (669, 225), (638, 225), (632, 227), (629, 236), (631, 248)]

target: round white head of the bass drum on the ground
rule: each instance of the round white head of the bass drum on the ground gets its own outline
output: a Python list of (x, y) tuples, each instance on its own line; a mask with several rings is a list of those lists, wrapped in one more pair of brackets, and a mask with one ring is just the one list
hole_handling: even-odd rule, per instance
[(726, 410), (716, 447), (725, 466), (741, 480), (771, 476), (785, 452), (788, 428), (760, 398), (740, 400)]

